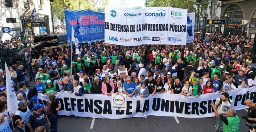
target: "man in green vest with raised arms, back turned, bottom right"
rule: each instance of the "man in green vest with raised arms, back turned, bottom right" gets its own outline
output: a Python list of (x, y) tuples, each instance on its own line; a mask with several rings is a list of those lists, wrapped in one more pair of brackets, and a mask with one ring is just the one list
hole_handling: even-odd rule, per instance
[(218, 112), (213, 102), (211, 103), (211, 106), (213, 107), (215, 115), (223, 121), (224, 132), (240, 132), (240, 119), (236, 115), (236, 110), (230, 108), (226, 111), (226, 116), (224, 116)]

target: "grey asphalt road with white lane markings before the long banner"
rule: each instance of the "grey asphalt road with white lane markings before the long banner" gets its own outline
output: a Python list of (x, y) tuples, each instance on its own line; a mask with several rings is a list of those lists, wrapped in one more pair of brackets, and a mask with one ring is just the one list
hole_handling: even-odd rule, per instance
[[(237, 111), (240, 118), (241, 132), (248, 131), (245, 126), (246, 120), (242, 115), (247, 115), (247, 111), (242, 109)], [(94, 120), (94, 122), (93, 122)], [(147, 118), (125, 118), (125, 119), (99, 119), (99, 118), (75, 118), (74, 116), (62, 116), (58, 121), (58, 131), (157, 131), (157, 132), (213, 132), (215, 131), (214, 118), (180, 118), (162, 116), (147, 116)], [(222, 128), (221, 128), (222, 130)]]

